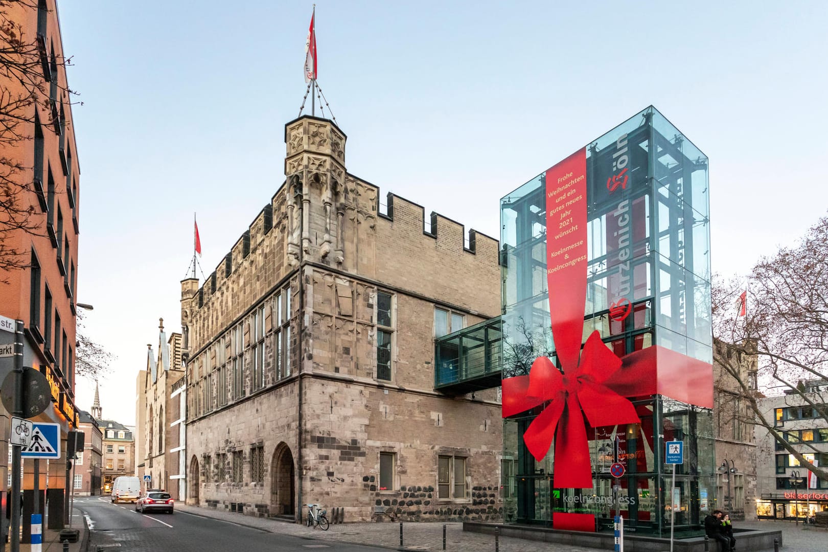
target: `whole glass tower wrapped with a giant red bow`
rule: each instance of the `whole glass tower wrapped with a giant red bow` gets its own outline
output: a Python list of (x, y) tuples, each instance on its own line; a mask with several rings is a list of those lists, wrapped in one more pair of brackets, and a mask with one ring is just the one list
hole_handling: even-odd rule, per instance
[[(506, 521), (612, 530), (620, 511), (669, 535), (674, 514), (676, 536), (700, 534), (708, 191), (707, 157), (649, 107), (501, 199)], [(672, 497), (669, 440), (684, 443)]]

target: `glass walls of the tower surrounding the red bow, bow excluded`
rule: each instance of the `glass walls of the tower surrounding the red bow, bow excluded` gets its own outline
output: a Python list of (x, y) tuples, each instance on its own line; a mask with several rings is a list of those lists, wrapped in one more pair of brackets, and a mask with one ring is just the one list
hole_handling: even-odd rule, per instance
[[(575, 233), (585, 237), (581, 343), (597, 332), (623, 362), (619, 373), (648, 355), (652, 385), (608, 380), (641, 422), (586, 424), (591, 488), (553, 487), (556, 442), (542, 460), (528, 452), (523, 434), (543, 406), (505, 419), (503, 454), (516, 460), (509, 483), (517, 491), (504, 497), (507, 520), (560, 528), (575, 528), (568, 524), (577, 520), (586, 523), (584, 530), (593, 520), (591, 530), (612, 530), (612, 516), (620, 511), (628, 530), (668, 535), (674, 513), (676, 536), (700, 535), (715, 488), (710, 409), (698, 406), (706, 398), (692, 398), (709, 395), (712, 405), (707, 157), (652, 107), (575, 156), (585, 161), (585, 180), (579, 182), (576, 173), (571, 190), (562, 178), (546, 182), (547, 175), (560, 174), (553, 167), (501, 199), (503, 379), (527, 376), (542, 356), (566, 377), (555, 343), (561, 336), (551, 331), (548, 282), (551, 272), (567, 266), (552, 268), (547, 259), (583, 244), (551, 252), (547, 237), (559, 247), (559, 238)], [(585, 190), (585, 223), (566, 218), (568, 206), (580, 199), (575, 188)], [(554, 194), (572, 200), (552, 199)], [(561, 202), (554, 217), (553, 200)], [(551, 223), (554, 228), (547, 228)], [(562, 290), (554, 291), (561, 296)], [(682, 388), (682, 378), (691, 391)], [(556, 439), (562, 427), (556, 426)], [(684, 441), (685, 459), (676, 467), (671, 499), (672, 468), (663, 455), (664, 442), (673, 439)], [(613, 463), (623, 465), (622, 477), (610, 473)]]

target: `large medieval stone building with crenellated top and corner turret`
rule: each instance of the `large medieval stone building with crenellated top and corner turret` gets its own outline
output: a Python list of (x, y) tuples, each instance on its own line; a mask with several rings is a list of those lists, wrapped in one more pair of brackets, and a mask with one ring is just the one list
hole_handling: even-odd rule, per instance
[(497, 520), (495, 389), (435, 388), (434, 338), (500, 312), (498, 241), (345, 170), (286, 124), (286, 180), (203, 286), (181, 282), (187, 502), (344, 521)]

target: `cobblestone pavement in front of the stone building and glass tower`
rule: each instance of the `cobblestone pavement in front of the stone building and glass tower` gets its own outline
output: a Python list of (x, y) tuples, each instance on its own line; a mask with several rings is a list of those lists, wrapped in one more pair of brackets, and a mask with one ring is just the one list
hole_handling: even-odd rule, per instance
[[(346, 523), (332, 525), (330, 530), (309, 529), (286, 521), (241, 516), (229, 511), (176, 504), (176, 511), (228, 521), (242, 526), (255, 527), (272, 533), (294, 535), (317, 540), (331, 540), (361, 545), (383, 546), (404, 550), (442, 550), (443, 524), (411, 522), (402, 524), (403, 545), (400, 546), (398, 523)], [(445, 550), (458, 552), (486, 552), (494, 550), (493, 535), (481, 535), (463, 530), (462, 523), (446, 523)], [(775, 521), (738, 522), (738, 527), (750, 529), (781, 529), (784, 552), (826, 552), (828, 551), (828, 530), (813, 527), (803, 528), (792, 523)], [(737, 550), (739, 543), (737, 542)], [(597, 552), (600, 549), (572, 545), (551, 544), (533, 540), (500, 537), (501, 552)], [(739, 550), (739, 552), (772, 552), (769, 550)]]

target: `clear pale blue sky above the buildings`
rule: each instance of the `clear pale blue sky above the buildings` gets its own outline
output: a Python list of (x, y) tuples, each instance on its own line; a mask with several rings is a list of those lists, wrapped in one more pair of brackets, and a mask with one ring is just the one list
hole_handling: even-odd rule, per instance
[[(633, 5), (634, 3), (634, 5)], [(78, 298), (132, 423), (158, 318), (180, 328), (198, 213), (209, 274), (282, 184), (312, 2), (60, 2), (81, 169)], [(654, 104), (710, 157), (714, 270), (828, 208), (828, 2), (316, 6), (349, 172), (498, 236), (498, 199)], [(88, 410), (94, 384), (79, 381)]]

